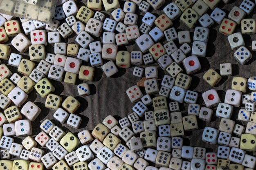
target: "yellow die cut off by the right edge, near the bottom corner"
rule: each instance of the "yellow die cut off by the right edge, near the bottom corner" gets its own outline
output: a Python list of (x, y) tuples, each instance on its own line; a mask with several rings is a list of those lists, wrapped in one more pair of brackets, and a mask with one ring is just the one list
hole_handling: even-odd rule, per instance
[(240, 149), (248, 150), (250, 152), (256, 151), (256, 135), (242, 134), (240, 139)]

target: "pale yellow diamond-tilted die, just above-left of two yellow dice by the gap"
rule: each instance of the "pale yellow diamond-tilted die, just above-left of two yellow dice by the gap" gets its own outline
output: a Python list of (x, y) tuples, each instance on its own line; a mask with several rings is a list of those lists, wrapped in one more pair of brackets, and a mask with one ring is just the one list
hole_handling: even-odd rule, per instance
[(46, 97), (49, 93), (54, 92), (55, 88), (47, 78), (41, 79), (36, 85), (35, 89), (41, 97)]

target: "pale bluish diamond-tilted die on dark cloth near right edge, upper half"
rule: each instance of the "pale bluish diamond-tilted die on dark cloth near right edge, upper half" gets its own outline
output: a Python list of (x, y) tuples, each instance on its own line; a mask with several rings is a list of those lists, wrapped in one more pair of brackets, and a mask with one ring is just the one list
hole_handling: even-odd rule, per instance
[(234, 57), (240, 64), (244, 65), (252, 58), (252, 53), (245, 46), (241, 46), (235, 51)]

